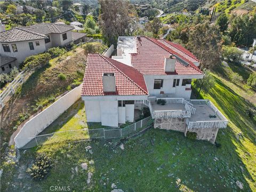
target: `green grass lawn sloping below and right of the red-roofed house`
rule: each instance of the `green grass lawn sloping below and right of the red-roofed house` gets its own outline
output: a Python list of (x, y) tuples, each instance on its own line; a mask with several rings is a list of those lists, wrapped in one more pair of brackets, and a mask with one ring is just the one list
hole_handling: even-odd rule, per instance
[[(20, 191), (23, 187), (23, 191), (49, 191), (50, 186), (110, 191), (112, 183), (124, 191), (239, 191), (236, 181), (243, 183), (244, 191), (256, 191), (256, 122), (244, 112), (252, 103), (237, 93), (239, 88), (230, 89), (225, 79), (213, 76), (215, 85), (207, 93), (203, 90), (201, 97), (210, 99), (229, 119), (227, 129), (218, 133), (220, 148), (206, 141), (191, 141), (183, 133), (159, 129), (122, 141), (124, 150), (116, 146), (119, 139), (51, 143), (28, 149), (25, 154), (21, 151), (16, 167), (5, 163), (3, 191)], [(73, 107), (67, 112), (73, 115), (63, 114), (62, 123), (52, 126), (52, 130), (82, 128), (77, 122), (85, 117), (83, 103), (78, 101)], [(243, 136), (237, 140), (239, 132)], [(88, 145), (92, 154), (85, 150)], [(45, 180), (33, 181), (25, 171), (35, 154), (41, 152), (50, 154), (54, 165)], [(90, 165), (92, 160), (94, 164)], [(81, 168), (84, 162), (89, 165), (87, 171)], [(76, 166), (78, 172), (72, 173)], [(87, 185), (89, 171), (93, 176)]]

